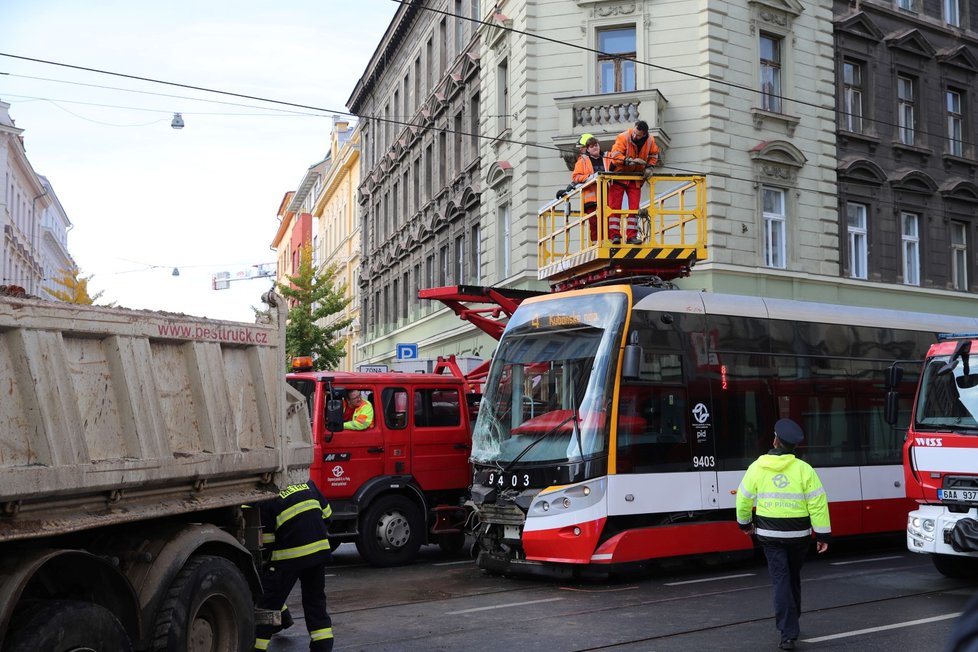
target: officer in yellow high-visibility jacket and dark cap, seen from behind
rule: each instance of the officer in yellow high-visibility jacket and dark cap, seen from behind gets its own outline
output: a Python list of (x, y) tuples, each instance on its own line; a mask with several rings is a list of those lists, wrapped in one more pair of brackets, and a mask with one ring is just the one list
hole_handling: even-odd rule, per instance
[[(829, 503), (818, 474), (794, 455), (805, 438), (791, 419), (774, 424), (774, 448), (747, 469), (737, 489), (737, 524), (767, 557), (774, 584), (774, 613), (782, 650), (795, 649), (801, 614), (801, 567), (815, 533), (818, 552), (829, 548)], [(751, 515), (751, 508), (757, 509)]]

